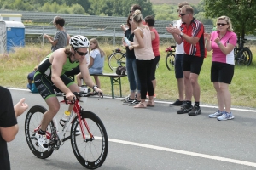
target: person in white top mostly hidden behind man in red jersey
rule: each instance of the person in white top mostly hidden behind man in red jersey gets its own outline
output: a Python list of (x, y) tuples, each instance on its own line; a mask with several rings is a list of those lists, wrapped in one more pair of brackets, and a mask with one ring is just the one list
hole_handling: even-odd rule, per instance
[[(180, 8), (182, 8), (184, 5), (189, 5), (187, 2), (178, 3), (178, 9), (177, 12), (180, 14)], [(180, 16), (180, 15), (179, 15)], [(177, 20), (176, 26), (177, 28), (180, 28), (182, 24), (182, 20)], [(170, 104), (172, 105), (183, 105), (184, 100), (184, 78), (183, 78), (183, 54), (184, 54), (184, 46), (183, 42), (181, 44), (176, 43), (176, 53), (175, 53), (175, 77), (177, 79), (177, 91), (178, 91), (178, 99)]]

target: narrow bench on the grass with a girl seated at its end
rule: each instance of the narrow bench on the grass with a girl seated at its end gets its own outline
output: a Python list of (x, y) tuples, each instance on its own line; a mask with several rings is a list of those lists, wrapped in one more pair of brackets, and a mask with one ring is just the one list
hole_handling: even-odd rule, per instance
[(120, 97), (122, 97), (121, 77), (126, 77), (127, 75), (117, 75), (115, 73), (102, 73), (102, 74), (90, 74), (90, 76), (109, 77), (110, 83), (111, 83), (112, 99), (114, 99), (113, 85), (119, 85)]

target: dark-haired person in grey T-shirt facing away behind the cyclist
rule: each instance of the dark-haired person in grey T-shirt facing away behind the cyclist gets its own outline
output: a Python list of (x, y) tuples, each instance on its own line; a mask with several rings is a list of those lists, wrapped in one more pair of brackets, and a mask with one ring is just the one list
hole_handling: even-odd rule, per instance
[(44, 38), (47, 38), (52, 45), (52, 52), (54, 52), (56, 49), (66, 47), (70, 39), (69, 35), (67, 34), (67, 31), (65, 31), (64, 29), (65, 20), (63, 18), (55, 16), (53, 23), (57, 29), (55, 37), (51, 37), (47, 34), (44, 34)]

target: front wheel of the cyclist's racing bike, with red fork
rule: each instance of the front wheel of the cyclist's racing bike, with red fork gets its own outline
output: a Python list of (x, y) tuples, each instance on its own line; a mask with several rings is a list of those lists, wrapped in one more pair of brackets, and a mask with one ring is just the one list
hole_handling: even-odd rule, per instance
[[(81, 111), (81, 115), (85, 141), (82, 134), (75, 134), (79, 126), (79, 117), (76, 116), (71, 127), (73, 153), (82, 166), (88, 169), (96, 169), (102, 166), (107, 157), (108, 135), (101, 119), (96, 114), (90, 111)], [(87, 129), (90, 129), (90, 133), (93, 135), (92, 138), (90, 138)]]

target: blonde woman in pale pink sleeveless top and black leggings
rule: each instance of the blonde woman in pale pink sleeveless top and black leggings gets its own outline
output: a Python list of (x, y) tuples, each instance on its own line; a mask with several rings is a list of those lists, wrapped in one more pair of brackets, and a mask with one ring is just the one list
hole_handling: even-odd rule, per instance
[[(151, 44), (150, 30), (148, 26), (143, 25), (143, 15), (140, 10), (136, 10), (134, 14), (132, 14), (132, 22), (137, 25), (137, 29), (133, 31), (135, 37), (129, 49), (134, 49), (137, 74), (141, 82), (141, 102), (134, 107), (145, 108), (147, 106), (154, 106), (154, 88), (150, 79), (154, 53)], [(146, 104), (147, 91), (149, 100)]]

